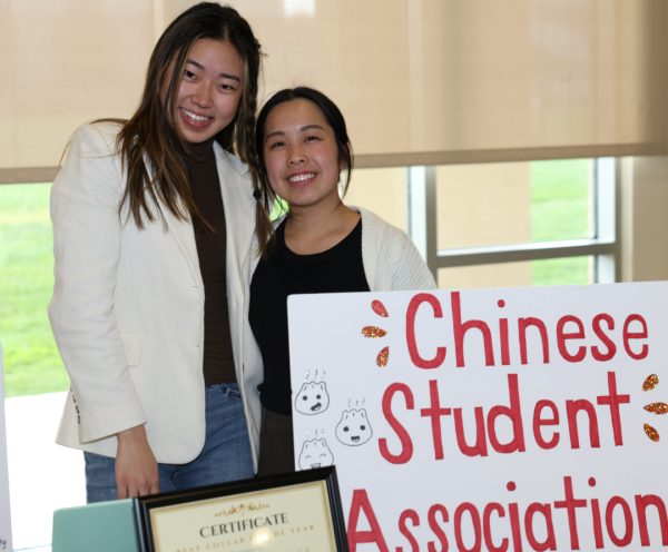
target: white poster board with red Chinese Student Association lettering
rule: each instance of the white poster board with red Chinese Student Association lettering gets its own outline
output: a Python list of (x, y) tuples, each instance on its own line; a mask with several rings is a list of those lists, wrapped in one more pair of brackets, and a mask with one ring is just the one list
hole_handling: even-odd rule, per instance
[(288, 313), (297, 469), (336, 464), (351, 552), (668, 545), (668, 283)]

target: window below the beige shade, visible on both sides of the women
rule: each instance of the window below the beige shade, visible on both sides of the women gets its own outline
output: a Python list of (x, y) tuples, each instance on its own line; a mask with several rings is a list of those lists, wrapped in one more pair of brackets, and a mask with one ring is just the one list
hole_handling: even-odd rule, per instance
[[(47, 317), (49, 190), (0, 186), (7, 396), (69, 384)], [(615, 190), (613, 159), (574, 159), (357, 169), (345, 200), (406, 230), (442, 288), (583, 285), (616, 280)]]

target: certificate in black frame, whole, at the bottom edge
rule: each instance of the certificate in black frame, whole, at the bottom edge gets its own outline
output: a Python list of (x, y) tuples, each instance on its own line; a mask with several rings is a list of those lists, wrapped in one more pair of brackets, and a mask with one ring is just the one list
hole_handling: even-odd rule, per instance
[(135, 499), (143, 552), (348, 552), (336, 469)]

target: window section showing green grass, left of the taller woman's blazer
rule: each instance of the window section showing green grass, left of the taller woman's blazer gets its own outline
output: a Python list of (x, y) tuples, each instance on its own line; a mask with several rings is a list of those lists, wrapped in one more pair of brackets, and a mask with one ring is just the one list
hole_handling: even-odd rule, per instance
[(47, 316), (53, 292), (50, 188), (0, 186), (0, 342), (8, 397), (69, 386)]

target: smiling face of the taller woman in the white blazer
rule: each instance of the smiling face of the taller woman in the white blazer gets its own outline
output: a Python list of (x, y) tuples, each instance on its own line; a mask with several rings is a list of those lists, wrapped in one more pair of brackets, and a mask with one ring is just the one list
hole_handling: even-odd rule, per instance
[[(165, 71), (160, 88), (160, 101), (171, 126), (174, 121), (165, 102), (175, 65), (176, 58)], [(242, 98), (243, 77), (243, 60), (229, 42), (213, 39), (195, 42), (176, 91), (176, 125), (186, 141), (208, 140), (233, 121)]]

